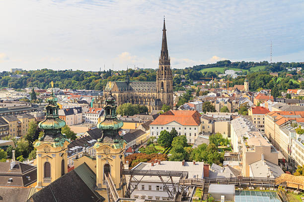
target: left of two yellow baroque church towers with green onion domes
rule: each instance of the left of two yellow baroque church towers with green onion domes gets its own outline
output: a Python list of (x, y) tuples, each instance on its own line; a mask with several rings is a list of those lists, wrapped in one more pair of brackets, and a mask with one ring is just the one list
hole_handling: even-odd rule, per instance
[(37, 150), (37, 191), (68, 172), (67, 149), (70, 142), (66, 135), (61, 133), (66, 122), (58, 116), (58, 99), (53, 90), (47, 102), (46, 118), (38, 124), (44, 135), (34, 143)]

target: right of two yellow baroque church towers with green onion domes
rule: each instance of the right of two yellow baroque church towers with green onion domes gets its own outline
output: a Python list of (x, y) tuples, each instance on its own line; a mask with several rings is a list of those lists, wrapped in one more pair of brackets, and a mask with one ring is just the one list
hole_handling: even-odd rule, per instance
[(107, 199), (107, 183), (114, 184), (120, 197), (124, 196), (122, 169), (125, 160), (126, 141), (118, 134), (123, 122), (117, 119), (115, 98), (111, 91), (105, 99), (105, 118), (97, 124), (101, 138), (94, 145), (96, 150), (97, 192)]

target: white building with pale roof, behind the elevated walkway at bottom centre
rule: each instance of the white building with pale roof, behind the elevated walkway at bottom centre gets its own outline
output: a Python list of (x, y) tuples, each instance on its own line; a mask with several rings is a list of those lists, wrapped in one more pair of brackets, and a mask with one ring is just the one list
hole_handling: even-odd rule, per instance
[[(157, 161), (153, 163), (141, 162), (132, 170), (174, 170), (188, 171), (188, 178), (203, 178), (204, 177), (204, 162), (181, 162), (181, 161)], [(135, 176), (140, 180), (143, 176)], [(180, 177), (172, 177), (173, 183), (178, 184)], [(172, 191), (172, 183), (170, 177), (162, 177), (166, 186)], [(131, 183), (136, 186), (137, 181), (131, 180)], [(163, 187), (163, 183), (158, 176), (144, 176), (141, 182), (138, 183), (137, 189), (131, 194), (133, 199), (146, 200), (169, 200), (168, 193)]]

